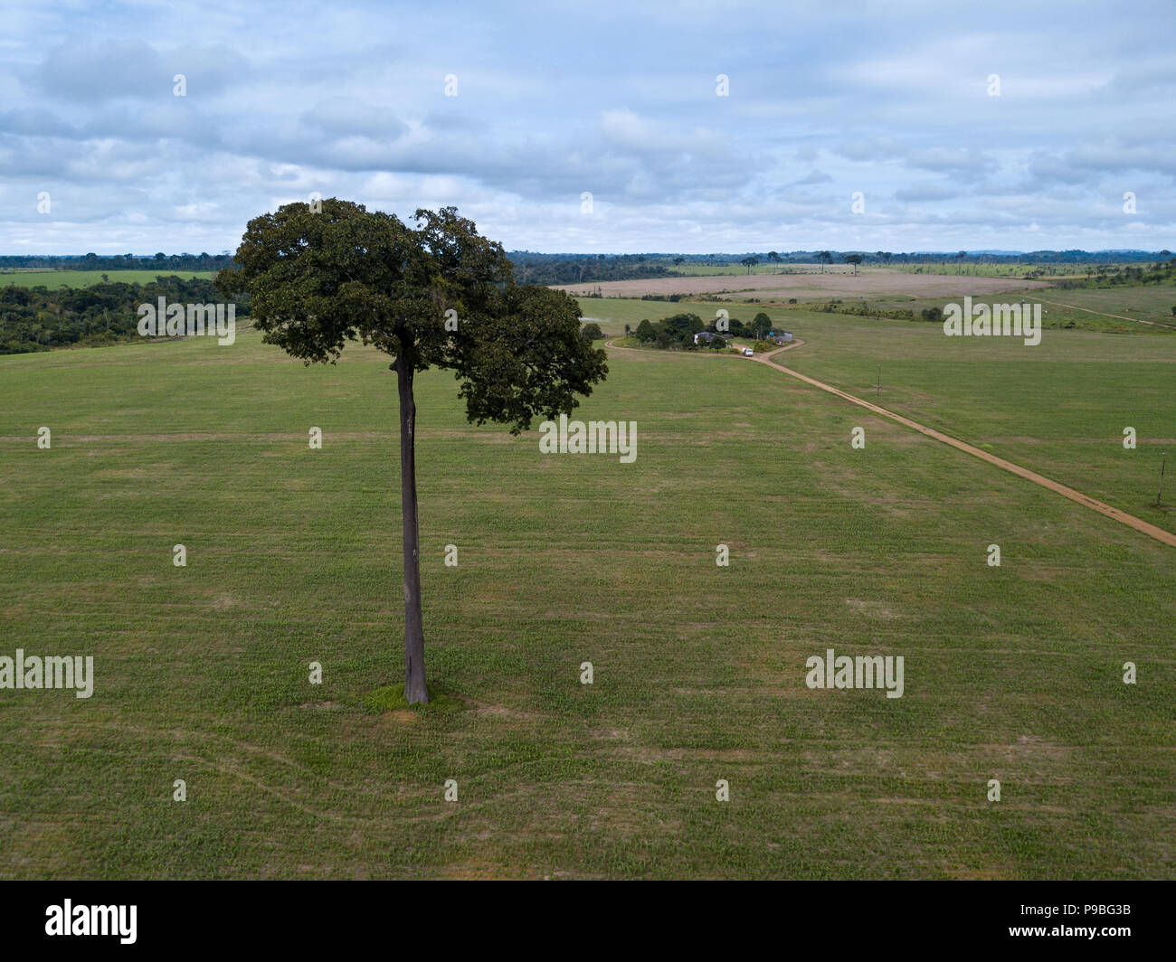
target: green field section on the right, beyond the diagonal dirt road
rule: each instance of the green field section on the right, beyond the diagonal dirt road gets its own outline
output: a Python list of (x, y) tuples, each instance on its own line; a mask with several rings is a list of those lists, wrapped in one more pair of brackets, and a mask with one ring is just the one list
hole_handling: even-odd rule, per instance
[(1176, 496), (1155, 505), (1161, 453), (1176, 457), (1176, 339), (1044, 330), (1025, 347), (924, 322), (794, 316), (808, 341), (782, 359), (795, 370), (1176, 532)]

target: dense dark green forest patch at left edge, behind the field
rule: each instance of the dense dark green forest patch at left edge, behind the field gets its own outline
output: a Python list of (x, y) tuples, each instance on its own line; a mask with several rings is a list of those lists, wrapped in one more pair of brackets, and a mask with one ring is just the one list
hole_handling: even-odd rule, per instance
[[(223, 303), (203, 278), (160, 276), (149, 283), (103, 281), (89, 287), (0, 287), (0, 354), (25, 354), (80, 345), (100, 347), (139, 340), (139, 305)], [(249, 314), (249, 298), (233, 300), (238, 320)]]

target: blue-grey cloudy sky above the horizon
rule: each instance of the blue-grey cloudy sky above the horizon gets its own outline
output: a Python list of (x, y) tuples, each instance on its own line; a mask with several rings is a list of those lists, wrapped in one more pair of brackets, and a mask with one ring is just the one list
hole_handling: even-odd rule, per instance
[(0, 253), (218, 253), (312, 192), (509, 249), (1176, 249), (1174, 36), (1171, 0), (6, 0)]

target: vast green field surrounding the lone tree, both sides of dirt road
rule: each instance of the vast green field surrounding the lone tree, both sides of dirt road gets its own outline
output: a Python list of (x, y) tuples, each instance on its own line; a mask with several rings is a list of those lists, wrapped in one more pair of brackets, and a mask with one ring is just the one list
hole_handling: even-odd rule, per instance
[[(876, 356), (883, 405), (1143, 514), (1176, 342), (796, 318), (797, 369), (864, 393)], [(541, 455), (420, 379), (428, 670), (460, 710), (381, 713), (386, 359), (308, 369), (252, 330), (0, 359), (0, 654), (96, 674), (0, 692), (0, 875), (1172, 875), (1171, 548), (763, 365), (609, 365), (576, 416), (635, 420), (632, 465)], [(830, 647), (904, 656), (904, 696), (808, 689)]]

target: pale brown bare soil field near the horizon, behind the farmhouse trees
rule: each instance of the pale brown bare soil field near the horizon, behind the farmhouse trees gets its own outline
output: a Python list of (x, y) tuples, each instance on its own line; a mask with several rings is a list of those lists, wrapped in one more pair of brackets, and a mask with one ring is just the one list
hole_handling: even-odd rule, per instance
[(1031, 290), (1049, 287), (1044, 281), (1013, 278), (975, 278), (955, 274), (908, 274), (898, 270), (863, 270), (853, 274), (730, 274), (714, 278), (655, 278), (643, 281), (604, 281), (603, 283), (559, 285), (575, 296), (600, 290), (606, 298), (640, 298), (643, 294), (717, 294), (747, 290), (788, 298), (876, 296), (909, 294), (914, 298), (962, 298), (965, 294), (994, 294), (1005, 290)]

